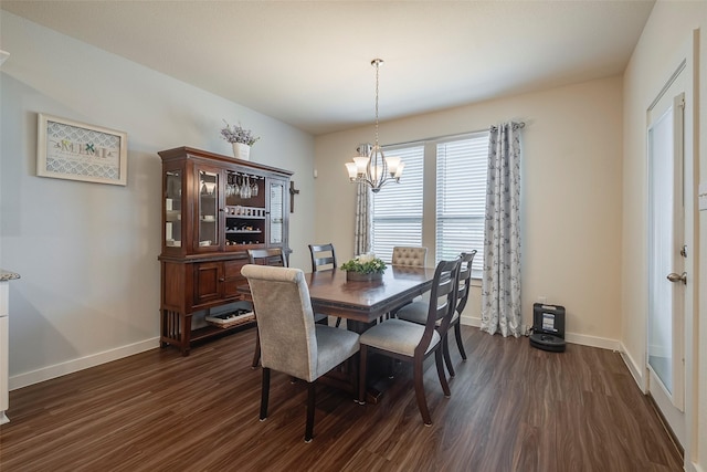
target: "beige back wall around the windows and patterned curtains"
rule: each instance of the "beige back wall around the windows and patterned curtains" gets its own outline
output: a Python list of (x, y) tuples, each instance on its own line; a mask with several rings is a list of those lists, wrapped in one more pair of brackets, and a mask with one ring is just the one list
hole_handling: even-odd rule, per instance
[[(532, 303), (544, 295), (567, 308), (569, 340), (610, 348), (621, 333), (621, 77), (611, 77), (380, 127), (381, 144), (393, 144), (524, 120), (524, 323), (532, 324)], [(315, 139), (316, 234), (333, 241), (341, 260), (352, 255), (355, 208), (344, 164), (372, 138), (369, 126)], [(465, 317), (475, 323), (478, 293), (472, 302)]]

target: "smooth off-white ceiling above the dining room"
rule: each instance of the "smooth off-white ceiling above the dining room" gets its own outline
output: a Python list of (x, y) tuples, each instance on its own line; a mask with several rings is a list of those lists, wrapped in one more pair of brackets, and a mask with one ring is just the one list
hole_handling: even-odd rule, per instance
[[(654, 1), (11, 1), (314, 135), (620, 74)], [(10, 51), (11, 52), (11, 51)], [(236, 120), (234, 118), (234, 120)]]

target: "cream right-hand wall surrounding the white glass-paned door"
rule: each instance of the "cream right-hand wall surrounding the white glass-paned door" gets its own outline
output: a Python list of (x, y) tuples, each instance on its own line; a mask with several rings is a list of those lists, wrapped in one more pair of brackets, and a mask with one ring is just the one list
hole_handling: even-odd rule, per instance
[[(707, 2), (656, 2), (624, 74), (622, 345), (645, 388), (647, 313), (646, 109), (683, 59), (695, 75), (687, 91), (686, 139), (694, 155), (686, 208), (696, 202), (696, 181), (707, 182)], [(693, 44), (693, 31), (700, 29)], [(693, 56), (696, 53), (697, 56)], [(699, 59), (697, 59), (699, 57)], [(698, 67), (696, 67), (698, 66)], [(686, 149), (687, 150), (687, 149)], [(696, 175), (699, 172), (698, 175)], [(685, 331), (687, 441), (685, 470), (707, 471), (707, 211), (688, 214), (688, 313)], [(692, 307), (692, 310), (690, 310)], [(701, 322), (701, 323), (700, 323)]]

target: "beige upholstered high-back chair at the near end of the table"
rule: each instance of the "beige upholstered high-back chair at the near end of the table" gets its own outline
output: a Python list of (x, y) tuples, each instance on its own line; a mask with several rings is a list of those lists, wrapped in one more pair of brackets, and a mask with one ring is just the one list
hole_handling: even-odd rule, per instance
[[(305, 380), (305, 442), (314, 437), (315, 382), (359, 350), (359, 335), (314, 323), (309, 289), (299, 269), (246, 264), (262, 349), (260, 419), (267, 418), (271, 370)], [(351, 363), (354, 364), (354, 363)]]

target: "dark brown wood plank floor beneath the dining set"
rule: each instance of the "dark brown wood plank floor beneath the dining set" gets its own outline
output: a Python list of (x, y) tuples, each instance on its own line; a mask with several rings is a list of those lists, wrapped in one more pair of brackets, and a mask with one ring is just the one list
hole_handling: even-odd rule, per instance
[[(253, 329), (181, 357), (155, 349), (10, 392), (0, 470), (10, 471), (680, 471), (682, 459), (619, 354), (463, 327), (468, 360), (442, 395), (433, 359), (425, 428), (404, 368), (378, 405), (273, 374), (260, 422)], [(453, 343), (453, 342), (452, 342)]]

